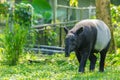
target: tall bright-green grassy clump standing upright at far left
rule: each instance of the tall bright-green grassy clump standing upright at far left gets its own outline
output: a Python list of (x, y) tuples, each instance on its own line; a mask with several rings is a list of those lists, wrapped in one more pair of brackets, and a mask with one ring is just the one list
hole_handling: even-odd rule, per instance
[(19, 24), (14, 24), (13, 31), (10, 31), (9, 27), (6, 27), (3, 46), (5, 62), (8, 65), (16, 65), (20, 54), (23, 53), (24, 45), (27, 41), (29, 29)]

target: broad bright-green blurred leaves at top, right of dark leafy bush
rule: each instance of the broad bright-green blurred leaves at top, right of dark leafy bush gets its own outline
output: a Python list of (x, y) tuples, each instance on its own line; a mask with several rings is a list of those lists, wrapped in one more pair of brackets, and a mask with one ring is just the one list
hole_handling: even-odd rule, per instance
[(52, 8), (46, 0), (22, 0), (34, 7), (34, 24), (50, 23), (52, 19)]

